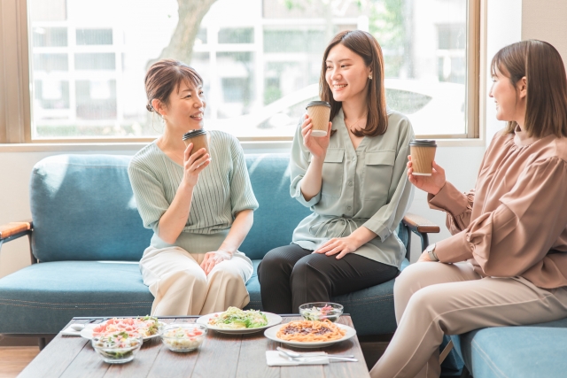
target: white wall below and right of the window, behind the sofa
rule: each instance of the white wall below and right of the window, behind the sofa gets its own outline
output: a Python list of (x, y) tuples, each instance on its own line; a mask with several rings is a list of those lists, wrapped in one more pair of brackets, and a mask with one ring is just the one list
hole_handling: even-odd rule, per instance
[[(524, 0), (524, 3), (526, 1)], [(535, 0), (532, 1), (535, 3)], [(555, 3), (562, 3), (561, 0)], [(501, 47), (520, 40), (522, 3), (520, 0), (487, 0), (487, 62)], [(563, 12), (566, 14), (567, 12)], [(525, 19), (524, 15), (524, 19)], [(566, 52), (567, 49), (563, 50)], [(485, 78), (489, 82), (489, 78)], [(489, 88), (489, 85), (488, 85)], [(494, 119), (493, 103), (488, 100), (486, 106), (486, 122), (481, 120), (481, 127), (490, 140), (493, 133), (502, 127), (501, 122)], [(445, 167), (447, 179), (461, 190), (472, 189), (475, 184), (478, 166), (482, 159), (484, 147), (439, 147), (437, 161)], [(246, 152), (246, 150), (245, 150)], [(263, 151), (262, 151), (263, 152)], [(63, 153), (56, 152), (0, 152), (0, 224), (14, 220), (30, 218), (28, 181), (32, 167), (36, 162), (50, 155)], [(132, 155), (134, 150), (105, 150), (96, 151), (66, 151), (65, 153), (109, 153)], [(431, 243), (441, 240), (449, 235), (445, 228), (445, 214), (429, 209), (425, 193), (417, 190), (410, 212), (422, 215), (433, 220), (441, 226), (441, 233), (431, 236)], [(418, 257), (417, 239), (413, 241), (412, 260)], [(27, 240), (18, 240), (4, 244), (0, 253), (0, 277), (10, 274), (29, 264)]]

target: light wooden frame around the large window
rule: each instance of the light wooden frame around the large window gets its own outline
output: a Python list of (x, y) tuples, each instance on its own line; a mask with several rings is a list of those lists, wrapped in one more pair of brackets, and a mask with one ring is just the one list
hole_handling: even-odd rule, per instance
[[(485, 58), (485, 2), (486, 0), (467, 1), (467, 93), (466, 132), (454, 135), (416, 135), (418, 138), (436, 139), (441, 144), (463, 145), (478, 144), (483, 134), (480, 120), (484, 116), (485, 67), (481, 59)], [(155, 137), (119, 138), (74, 137), (65, 139), (32, 139), (31, 129), (31, 44), (28, 42), (27, 0), (3, 0), (0, 2), (0, 143), (19, 144), (90, 144), (90, 143), (149, 143)], [(255, 32), (258, 35), (258, 31)], [(15, 96), (11, 96), (15, 94)], [(241, 143), (281, 144), (291, 142), (291, 136), (238, 137)], [(453, 143), (451, 143), (453, 142)], [(269, 147), (268, 147), (269, 148)]]

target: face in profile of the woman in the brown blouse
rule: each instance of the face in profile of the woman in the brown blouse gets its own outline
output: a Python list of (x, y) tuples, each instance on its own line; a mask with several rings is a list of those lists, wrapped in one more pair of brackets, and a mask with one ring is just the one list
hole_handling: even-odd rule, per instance
[(517, 121), (520, 126), (523, 126), (526, 96), (525, 77), (514, 86), (509, 76), (496, 68), (492, 79), (493, 86), (488, 96), (493, 97), (496, 104), (496, 119)]

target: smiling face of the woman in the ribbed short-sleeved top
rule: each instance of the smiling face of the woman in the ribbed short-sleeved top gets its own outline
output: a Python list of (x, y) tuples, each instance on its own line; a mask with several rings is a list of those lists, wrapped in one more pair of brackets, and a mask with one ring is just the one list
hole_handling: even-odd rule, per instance
[(159, 112), (164, 116), (167, 127), (183, 133), (202, 128), (206, 108), (203, 89), (187, 81), (182, 81), (178, 89), (171, 92), (168, 104)]

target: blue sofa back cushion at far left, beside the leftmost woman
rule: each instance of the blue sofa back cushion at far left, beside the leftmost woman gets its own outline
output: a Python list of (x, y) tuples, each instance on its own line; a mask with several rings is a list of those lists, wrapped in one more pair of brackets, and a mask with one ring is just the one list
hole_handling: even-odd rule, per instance
[(150, 245), (128, 179), (130, 157), (57, 155), (30, 180), (33, 251), (41, 261), (139, 261)]

